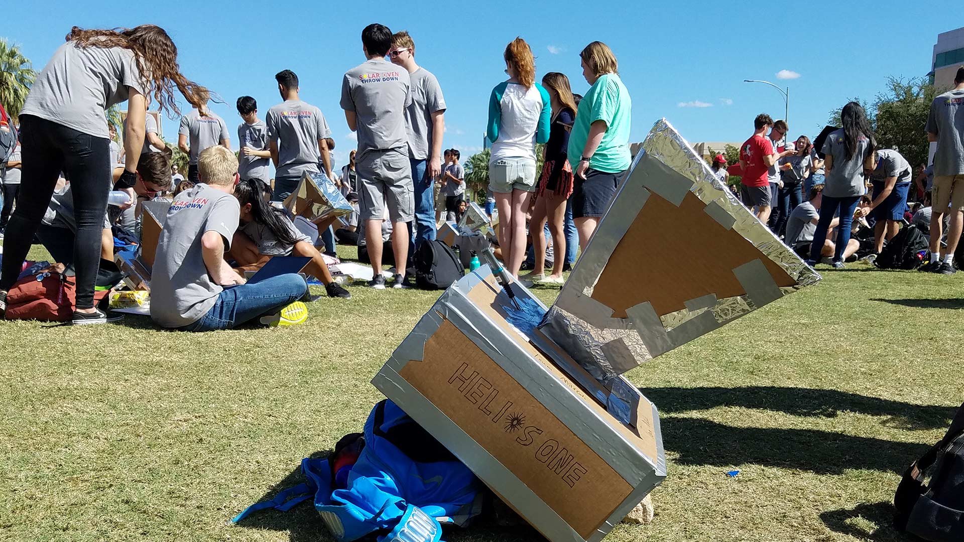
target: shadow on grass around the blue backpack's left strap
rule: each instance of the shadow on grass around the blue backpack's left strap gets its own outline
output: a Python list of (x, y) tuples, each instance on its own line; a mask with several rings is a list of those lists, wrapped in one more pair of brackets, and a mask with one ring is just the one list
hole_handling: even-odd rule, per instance
[[(332, 450), (321, 450), (311, 454), (312, 458), (325, 458), (332, 453)], [(294, 487), (305, 481), (305, 476), (301, 472), (301, 464), (276, 483), (271, 489), (265, 492), (254, 502), (268, 501), (274, 499), (282, 490)], [(290, 542), (329, 542), (334, 541), (328, 532), (328, 528), (321, 521), (318, 512), (311, 505), (311, 499), (298, 504), (287, 512), (281, 512), (274, 508), (258, 510), (235, 524), (238, 528), (254, 528), (264, 530), (286, 530)], [(238, 510), (240, 512), (241, 510)]]

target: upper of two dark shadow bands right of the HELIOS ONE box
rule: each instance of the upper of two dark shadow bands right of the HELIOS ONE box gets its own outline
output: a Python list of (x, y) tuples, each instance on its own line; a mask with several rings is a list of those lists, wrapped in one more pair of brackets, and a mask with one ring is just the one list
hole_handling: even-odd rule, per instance
[(915, 405), (857, 393), (812, 388), (748, 386), (741, 388), (640, 388), (663, 414), (710, 410), (717, 406), (784, 412), (793, 416), (836, 418), (841, 412), (884, 416), (900, 429), (947, 427), (957, 407)]

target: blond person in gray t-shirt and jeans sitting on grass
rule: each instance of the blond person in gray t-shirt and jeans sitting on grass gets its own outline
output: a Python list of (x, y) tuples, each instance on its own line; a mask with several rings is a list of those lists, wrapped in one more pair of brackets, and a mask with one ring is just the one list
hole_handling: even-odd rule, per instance
[(308, 284), (288, 273), (246, 285), (225, 261), (238, 227), (240, 205), (232, 196), (238, 160), (214, 146), (201, 151), (201, 180), (180, 193), (168, 209), (157, 244), (150, 282), (150, 318), (182, 331), (231, 329), (254, 318), (293, 325), (308, 318), (299, 301)]

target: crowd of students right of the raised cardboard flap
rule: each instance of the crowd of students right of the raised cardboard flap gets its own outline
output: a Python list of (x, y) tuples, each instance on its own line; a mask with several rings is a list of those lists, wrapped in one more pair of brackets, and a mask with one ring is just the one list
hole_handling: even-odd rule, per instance
[[(878, 146), (864, 108), (849, 102), (841, 111), (842, 127), (823, 134), (820, 149), (806, 135), (788, 142), (787, 122), (759, 115), (739, 151), (738, 197), (808, 263), (827, 257), (844, 268), (871, 231), (866, 256), (872, 261), (901, 224), (913, 223), (929, 235), (921, 269), (953, 274), (964, 226), (964, 68), (954, 84), (930, 105), (921, 137), (936, 142), (936, 152), (933, 165), (919, 167), (917, 176), (899, 149)], [(727, 182), (724, 157), (713, 159), (712, 170)]]

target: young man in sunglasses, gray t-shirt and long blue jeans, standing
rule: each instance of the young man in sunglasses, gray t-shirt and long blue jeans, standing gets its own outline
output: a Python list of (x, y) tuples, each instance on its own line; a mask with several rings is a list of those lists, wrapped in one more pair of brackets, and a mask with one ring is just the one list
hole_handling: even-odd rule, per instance
[[(445, 98), (431, 71), (415, 64), (415, 41), (408, 32), (396, 32), (388, 51), (391, 63), (409, 72), (412, 104), (405, 110), (409, 134), (409, 161), (415, 184), (415, 221), (409, 223), (409, 243), (414, 251), (435, 239), (435, 178), (442, 172), (442, 133), (445, 131)], [(410, 255), (414, 252), (410, 251)]]

